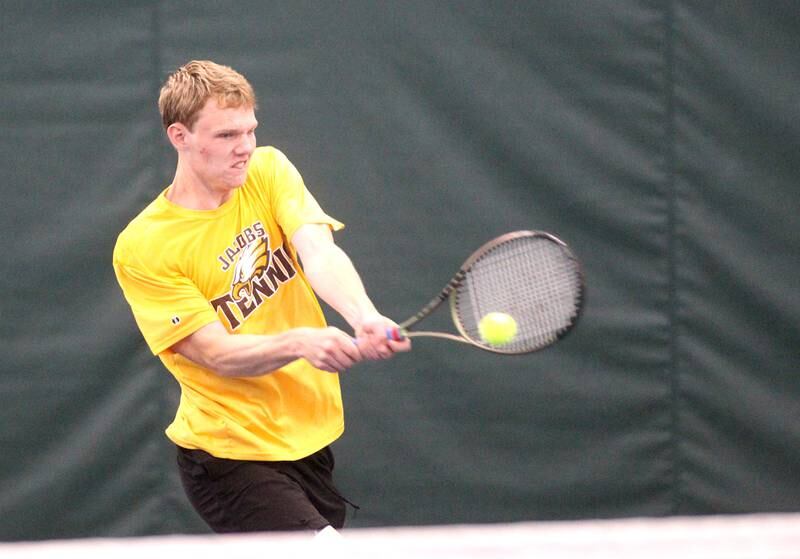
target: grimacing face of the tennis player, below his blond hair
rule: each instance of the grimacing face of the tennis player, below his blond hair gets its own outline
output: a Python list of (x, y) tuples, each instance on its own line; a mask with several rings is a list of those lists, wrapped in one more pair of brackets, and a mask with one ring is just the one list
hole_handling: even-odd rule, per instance
[(186, 130), (181, 155), (188, 170), (209, 190), (240, 187), (256, 148), (256, 126), (253, 107), (221, 108), (209, 99), (192, 130)]

